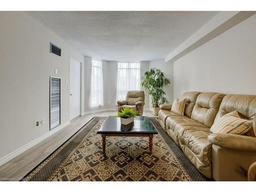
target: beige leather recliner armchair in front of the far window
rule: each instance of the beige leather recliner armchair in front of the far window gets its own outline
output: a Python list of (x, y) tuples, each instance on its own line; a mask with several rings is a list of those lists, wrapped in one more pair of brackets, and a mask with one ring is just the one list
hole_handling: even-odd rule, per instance
[(145, 104), (144, 99), (144, 91), (128, 91), (125, 100), (117, 101), (118, 112), (121, 112), (125, 107), (128, 107), (135, 111), (139, 111), (141, 116)]

